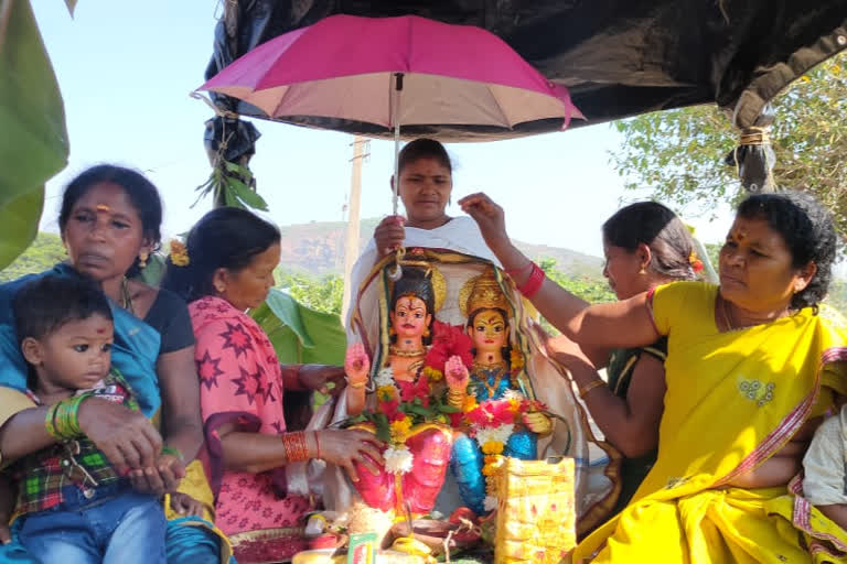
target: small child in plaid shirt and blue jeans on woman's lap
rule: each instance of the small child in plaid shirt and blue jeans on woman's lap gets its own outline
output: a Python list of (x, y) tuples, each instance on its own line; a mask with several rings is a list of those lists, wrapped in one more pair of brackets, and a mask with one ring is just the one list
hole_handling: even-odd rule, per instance
[[(14, 300), (28, 393), (50, 405), (47, 433), (57, 440), (2, 474), (0, 500), (17, 497), (20, 542), (42, 562), (164, 563), (165, 519), (154, 496), (132, 489), (76, 422), (88, 398), (138, 410), (132, 390), (110, 364), (109, 303), (87, 279), (47, 275)], [(163, 453), (167, 463), (176, 454)], [(17, 489), (17, 496), (11, 495)], [(9, 508), (0, 507), (3, 524)]]

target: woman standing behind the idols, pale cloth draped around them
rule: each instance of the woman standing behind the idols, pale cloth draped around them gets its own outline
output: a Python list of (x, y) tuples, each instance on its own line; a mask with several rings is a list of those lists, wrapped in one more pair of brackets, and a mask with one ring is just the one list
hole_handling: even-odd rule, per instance
[[(479, 276), (491, 264), (500, 262), (485, 245), (481, 232), (468, 217), (451, 218), (447, 215), (452, 192), (452, 166), (441, 143), (418, 139), (408, 143), (399, 155), (399, 196), (407, 217), (386, 217), (377, 226), (374, 238), (353, 268), (349, 292), (350, 312), (346, 314), (347, 345), (363, 343), (372, 358), (379, 356), (380, 328), (386, 315), (385, 281), (383, 268), (392, 261), (399, 248), (427, 249), (440, 256), (438, 269), (446, 281), (446, 299), (437, 318), (442, 323), (464, 326), (467, 314), (462, 312), (460, 292), (465, 283)], [(586, 417), (573, 393), (561, 386), (556, 367), (544, 356), (536, 341), (532, 313), (507, 276), (500, 271), (498, 279), (510, 301), (514, 304), (513, 333), (521, 335), (527, 356), (528, 388), (530, 394), (545, 403), (550, 412), (561, 415), (553, 434), (539, 442), (538, 456), (572, 456), (577, 459), (577, 508), (585, 513), (593, 503), (588, 496), (588, 434)], [(377, 367), (378, 368), (378, 367)], [(347, 391), (342, 393), (332, 415), (332, 422), (347, 417)], [(356, 397), (357, 394), (352, 394)], [(358, 394), (361, 397), (361, 394)], [(351, 502), (352, 490), (340, 473), (330, 471), (324, 481), (324, 501), (328, 509), (344, 510)], [(605, 484), (610, 489), (610, 485)], [(594, 489), (594, 488), (591, 488)], [(602, 497), (602, 496), (600, 496)], [(455, 481), (448, 476), (436, 510), (447, 513), (461, 505)]]

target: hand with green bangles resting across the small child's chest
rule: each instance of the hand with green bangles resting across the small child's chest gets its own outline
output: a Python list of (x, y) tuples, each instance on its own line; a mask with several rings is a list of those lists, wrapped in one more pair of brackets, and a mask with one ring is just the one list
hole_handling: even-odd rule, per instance
[(138, 411), (90, 398), (79, 405), (79, 429), (121, 475), (130, 469), (156, 473), (162, 437)]

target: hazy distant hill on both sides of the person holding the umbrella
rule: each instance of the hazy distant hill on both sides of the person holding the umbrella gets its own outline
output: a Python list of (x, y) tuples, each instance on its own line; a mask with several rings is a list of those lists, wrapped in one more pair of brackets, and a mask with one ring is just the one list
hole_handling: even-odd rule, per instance
[[(360, 249), (364, 249), (373, 237), (379, 219), (363, 219), (360, 227)], [(282, 231), (282, 268), (310, 274), (341, 273), (344, 270), (344, 238), (346, 224), (343, 221), (312, 221), (290, 225)], [(533, 259), (556, 259), (557, 269), (572, 275), (601, 276), (603, 261), (581, 252), (515, 241), (517, 247)]]

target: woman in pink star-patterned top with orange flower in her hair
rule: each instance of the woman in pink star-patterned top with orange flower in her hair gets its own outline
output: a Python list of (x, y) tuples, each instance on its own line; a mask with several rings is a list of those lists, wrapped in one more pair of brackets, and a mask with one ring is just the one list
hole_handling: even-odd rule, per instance
[(279, 257), (275, 226), (243, 209), (214, 209), (191, 229), (184, 253), (171, 254), (162, 283), (190, 302), (215, 523), (227, 534), (303, 524), (314, 507), (286, 491), (288, 464), (323, 459), (355, 480), (354, 462), (376, 473), (383, 460), (380, 442), (363, 431), (286, 431), (286, 390), (322, 389), (342, 371), (280, 366), (245, 313), (267, 297)]

